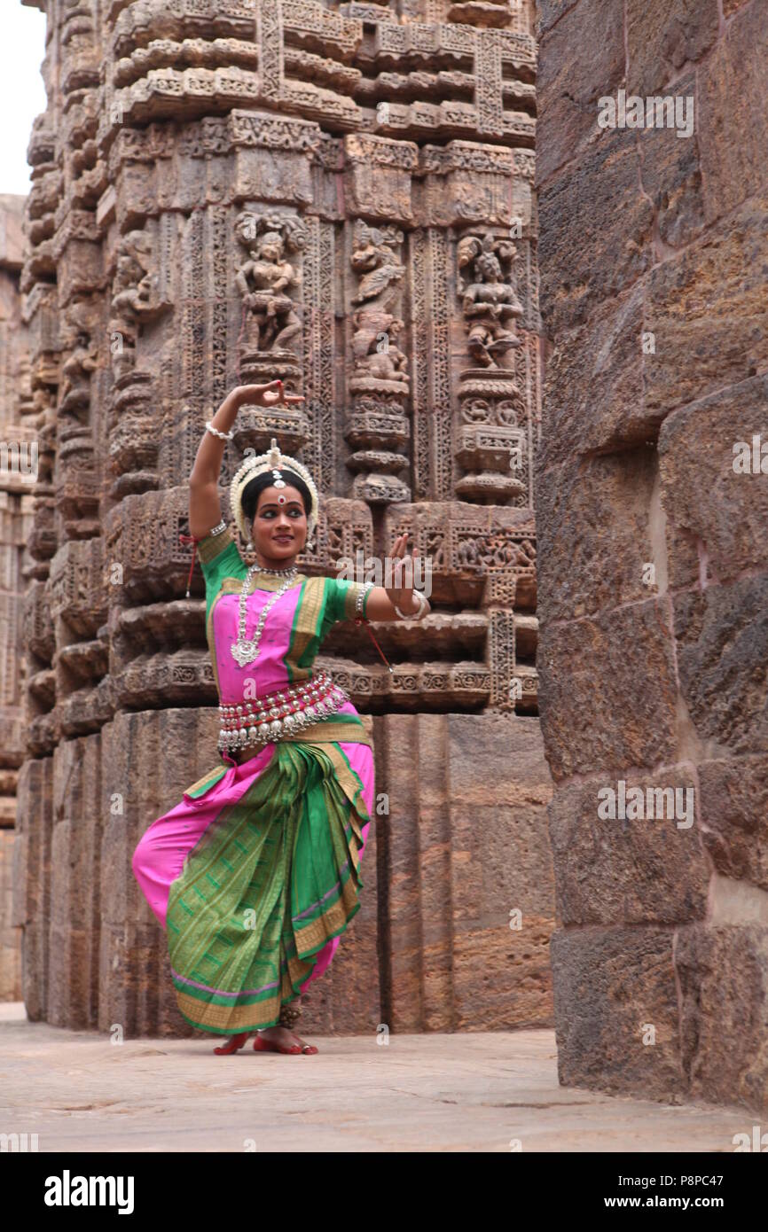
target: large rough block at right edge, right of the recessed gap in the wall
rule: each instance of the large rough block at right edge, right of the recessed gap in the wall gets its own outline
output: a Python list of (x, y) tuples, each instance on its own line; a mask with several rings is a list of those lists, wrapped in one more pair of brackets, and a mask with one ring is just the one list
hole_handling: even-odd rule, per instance
[[(738, 442), (743, 451), (736, 448)], [(700, 577), (709, 583), (726, 583), (746, 569), (768, 565), (768, 484), (759, 469), (762, 442), (768, 444), (764, 376), (711, 394), (664, 420), (658, 466), (673, 589), (690, 586)], [(746, 473), (735, 469), (742, 452), (750, 466)]]

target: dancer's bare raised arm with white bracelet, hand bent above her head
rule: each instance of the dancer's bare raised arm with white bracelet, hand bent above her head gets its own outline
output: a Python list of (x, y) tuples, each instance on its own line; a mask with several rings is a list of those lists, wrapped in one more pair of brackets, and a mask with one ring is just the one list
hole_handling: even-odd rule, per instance
[[(303, 402), (301, 394), (286, 394), (282, 381), (270, 381), (263, 386), (235, 386), (211, 420), (211, 428), (229, 432), (240, 407), (274, 407), (276, 403)], [(222, 469), (226, 440), (208, 429), (202, 434), (195, 464), (190, 473), (190, 535), (202, 538), (222, 520), (218, 499), (218, 477)]]

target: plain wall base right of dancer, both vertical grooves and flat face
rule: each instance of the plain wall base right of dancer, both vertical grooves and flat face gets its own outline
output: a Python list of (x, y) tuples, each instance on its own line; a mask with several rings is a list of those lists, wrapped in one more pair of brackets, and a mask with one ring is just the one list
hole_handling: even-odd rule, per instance
[(537, 723), (376, 722), (377, 775), (381, 766), (390, 797), (377, 838), (390, 887), (382, 1004), (392, 1029), (551, 1021), (551, 785)]

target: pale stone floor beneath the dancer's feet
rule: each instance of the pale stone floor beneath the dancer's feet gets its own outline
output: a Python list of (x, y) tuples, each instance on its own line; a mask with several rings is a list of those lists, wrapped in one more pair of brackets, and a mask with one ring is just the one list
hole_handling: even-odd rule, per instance
[[(717, 1151), (754, 1117), (557, 1084), (552, 1031), (110, 1044), (0, 1004), (0, 1133), (49, 1151)], [(514, 1146), (519, 1143), (519, 1146)]]

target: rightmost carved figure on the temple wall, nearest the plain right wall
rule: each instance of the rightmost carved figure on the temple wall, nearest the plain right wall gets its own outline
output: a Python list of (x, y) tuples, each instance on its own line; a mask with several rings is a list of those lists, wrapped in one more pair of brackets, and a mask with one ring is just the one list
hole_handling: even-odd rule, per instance
[[(523, 315), (512, 272), (515, 253), (513, 243), (489, 232), (464, 235), (459, 241), (459, 293), (468, 320), (468, 349), (483, 367), (505, 367), (505, 352), (520, 346), (514, 328), (514, 318)], [(507, 274), (502, 261), (509, 262)], [(465, 280), (461, 271), (467, 266)]]

